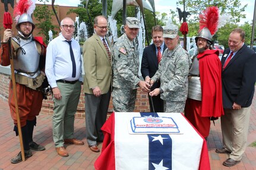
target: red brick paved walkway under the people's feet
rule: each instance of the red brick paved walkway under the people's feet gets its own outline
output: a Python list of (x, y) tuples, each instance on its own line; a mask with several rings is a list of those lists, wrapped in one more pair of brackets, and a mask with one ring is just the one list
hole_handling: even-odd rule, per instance
[[(254, 95), (255, 96), (255, 95)], [(83, 146), (68, 145), (69, 156), (63, 158), (55, 152), (52, 140), (52, 116), (40, 114), (37, 117), (37, 126), (34, 130), (34, 141), (46, 147), (41, 152), (32, 151), (33, 156), (24, 162), (12, 164), (10, 159), (20, 152), (20, 143), (15, 136), (13, 123), (7, 102), (0, 99), (0, 169), (94, 169), (94, 162), (100, 153), (91, 152), (85, 136), (85, 123), (83, 119), (75, 119), (75, 137), (85, 142)], [(252, 113), (249, 126), (248, 145), (256, 140), (256, 98), (252, 104)], [(211, 126), (208, 137), (208, 153), (210, 156), (211, 169), (246, 169), (256, 170), (256, 147), (247, 147), (241, 163), (232, 168), (222, 165), (227, 159), (226, 154), (217, 154), (216, 147), (222, 147), (222, 133), (220, 122)], [(102, 144), (99, 145), (100, 149)], [(185, 153), (184, 153), (185, 154)]]

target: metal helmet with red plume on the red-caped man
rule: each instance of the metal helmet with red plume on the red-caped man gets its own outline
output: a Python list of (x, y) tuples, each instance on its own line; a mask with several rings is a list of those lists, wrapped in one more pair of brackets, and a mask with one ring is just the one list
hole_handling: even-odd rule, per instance
[(211, 40), (213, 35), (217, 31), (217, 25), (219, 21), (219, 9), (218, 7), (208, 7), (200, 17), (200, 28), (195, 41), (197, 42), (198, 38), (206, 39), (209, 44), (213, 44)]

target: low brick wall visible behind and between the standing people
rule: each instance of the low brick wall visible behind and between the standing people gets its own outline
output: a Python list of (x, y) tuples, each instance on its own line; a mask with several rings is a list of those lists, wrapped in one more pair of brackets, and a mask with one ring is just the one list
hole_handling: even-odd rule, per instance
[[(4, 101), (8, 101), (8, 92), (9, 92), (9, 75), (0, 73), (0, 98)], [(83, 85), (82, 88), (83, 89)], [(43, 100), (43, 105), (41, 108), (41, 112), (43, 114), (53, 114), (53, 101), (52, 97), (48, 97), (47, 100)], [(113, 111), (113, 104), (112, 104), (112, 98), (110, 99), (109, 103), (109, 112)], [(148, 102), (148, 95), (146, 92), (141, 91), (140, 88), (138, 88), (137, 91), (137, 99), (135, 103), (135, 112), (148, 112), (150, 111), (149, 102)], [(75, 114), (75, 117), (77, 118), (85, 118), (84, 113), (84, 93), (81, 91), (80, 100), (77, 107), (77, 113)]]

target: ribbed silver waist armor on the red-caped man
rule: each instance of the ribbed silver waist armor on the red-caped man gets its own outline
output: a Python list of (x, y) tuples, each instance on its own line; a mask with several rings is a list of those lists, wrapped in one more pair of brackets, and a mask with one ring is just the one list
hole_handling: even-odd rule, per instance
[(188, 77), (188, 98), (194, 100), (202, 100), (201, 82), (200, 77), (189, 76)]

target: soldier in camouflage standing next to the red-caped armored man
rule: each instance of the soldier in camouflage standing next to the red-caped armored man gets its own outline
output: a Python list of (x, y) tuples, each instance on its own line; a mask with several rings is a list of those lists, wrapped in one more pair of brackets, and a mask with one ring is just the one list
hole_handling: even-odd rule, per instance
[(188, 94), (188, 71), (191, 59), (188, 53), (178, 44), (178, 26), (166, 25), (163, 29), (163, 38), (167, 49), (163, 53), (159, 69), (151, 78), (150, 84), (158, 79), (160, 88), (150, 92), (151, 96), (159, 93), (164, 100), (165, 112), (183, 112)]

